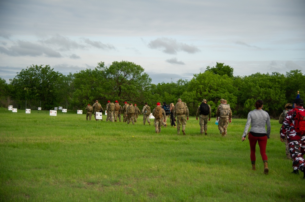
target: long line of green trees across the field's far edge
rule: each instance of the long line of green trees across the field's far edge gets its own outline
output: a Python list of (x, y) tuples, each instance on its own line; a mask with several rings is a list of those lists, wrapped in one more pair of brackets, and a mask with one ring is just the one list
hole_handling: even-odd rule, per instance
[(231, 106), (236, 118), (246, 118), (254, 109), (257, 99), (264, 101), (264, 110), (271, 118), (277, 118), (286, 103), (291, 103), (296, 92), (304, 94), (305, 74), (301, 70), (291, 70), (286, 74), (251, 74), (233, 76), (233, 68), (217, 63), (206, 67), (203, 73), (194, 74), (191, 80), (176, 83), (152, 84), (144, 68), (133, 62), (114, 61), (109, 67), (99, 62), (95, 69), (85, 69), (77, 73), (63, 75), (49, 65), (31, 65), (20, 72), (9, 84), (0, 78), (0, 104), (8, 106), (8, 100), (40, 101), (42, 109), (49, 110), (60, 103), (68, 103), (69, 110), (85, 109), (95, 100), (106, 105), (107, 101), (125, 101), (154, 106), (157, 102), (167, 104), (186, 102), (190, 115), (195, 115), (202, 99), (211, 106), (215, 116), (220, 99)]

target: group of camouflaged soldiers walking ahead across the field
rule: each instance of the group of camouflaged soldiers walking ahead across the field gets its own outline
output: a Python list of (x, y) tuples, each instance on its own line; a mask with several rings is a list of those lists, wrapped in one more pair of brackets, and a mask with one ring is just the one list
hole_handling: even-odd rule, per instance
[[(221, 99), (220, 102), (221, 104), (218, 106), (216, 111), (216, 117), (218, 120), (218, 129), (222, 136), (226, 136), (228, 124), (231, 123), (232, 120), (232, 112), (230, 109), (230, 105), (227, 104), (226, 100)], [(137, 104), (133, 105), (132, 103), (128, 104), (127, 102), (125, 102), (122, 107), (120, 106), (118, 101), (115, 101), (115, 103), (108, 101), (106, 105), (106, 111), (107, 111), (106, 122), (108, 121), (117, 122), (117, 119), (119, 119), (119, 121), (121, 122), (121, 115), (123, 115), (123, 122), (127, 122), (127, 124), (132, 122), (132, 124), (135, 124), (135, 122), (137, 122), (138, 115), (143, 114), (143, 124), (145, 125), (147, 121), (147, 123), (150, 125), (149, 116), (152, 113), (152, 116), (154, 116), (155, 132), (158, 134), (161, 132), (162, 125), (164, 127), (167, 127), (167, 118), (170, 117), (170, 115), (167, 115), (164, 110), (166, 106), (167, 105), (165, 102), (163, 102), (163, 105), (161, 105), (160, 102), (158, 102), (156, 104), (156, 107), (151, 112), (147, 102), (143, 106), (142, 111), (140, 111), (140, 109), (137, 107)], [(182, 127), (181, 131), (183, 135), (185, 135), (185, 126), (189, 117), (187, 104), (185, 102), (182, 102), (181, 99), (178, 98), (177, 103), (172, 107), (170, 107), (170, 109), (173, 110), (170, 111), (170, 113), (174, 114), (173, 117), (177, 122), (177, 134), (178, 135), (180, 134), (180, 128)], [(86, 110), (87, 110), (86, 120), (88, 120), (88, 117), (89, 120), (91, 120), (91, 116), (93, 113), (96, 121), (98, 121), (98, 119), (96, 119), (96, 112), (104, 111), (101, 104), (99, 104), (99, 101), (95, 101), (95, 103), (92, 106), (88, 104)], [(203, 99), (202, 103), (197, 109), (196, 120), (198, 120), (198, 115), (199, 115), (200, 134), (204, 133), (205, 135), (207, 135), (207, 122), (210, 121), (211, 119), (211, 107), (209, 104), (207, 104), (206, 99)]]

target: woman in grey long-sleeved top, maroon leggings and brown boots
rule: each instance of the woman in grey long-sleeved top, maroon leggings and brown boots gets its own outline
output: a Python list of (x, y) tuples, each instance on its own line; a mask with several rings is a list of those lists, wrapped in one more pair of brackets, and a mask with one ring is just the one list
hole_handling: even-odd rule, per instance
[[(258, 143), (258, 146), (260, 147), (260, 155), (262, 156), (264, 163), (264, 174), (268, 175), (269, 169), (268, 169), (268, 157), (266, 155), (266, 146), (267, 146), (267, 139), (270, 138), (270, 131), (271, 131), (270, 117), (268, 113), (262, 109), (263, 108), (262, 100), (257, 100), (255, 102), (255, 107), (256, 109), (248, 113), (247, 123), (245, 126), (244, 133), (242, 134), (242, 141), (246, 139), (246, 135), (251, 124), (251, 129), (248, 133), (248, 139), (249, 139), (250, 151), (251, 151), (250, 159), (252, 164), (252, 170), (256, 170), (255, 148), (256, 148), (256, 143)], [(267, 132), (265, 128), (266, 125), (267, 125)]]

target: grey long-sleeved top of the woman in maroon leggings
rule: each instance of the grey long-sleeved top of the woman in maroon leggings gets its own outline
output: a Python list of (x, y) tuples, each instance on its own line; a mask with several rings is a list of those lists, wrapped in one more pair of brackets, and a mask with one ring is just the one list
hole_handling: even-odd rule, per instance
[[(267, 133), (267, 138), (269, 139), (271, 125), (270, 125), (270, 117), (266, 111), (261, 109), (260, 110), (254, 109), (253, 111), (250, 111), (248, 113), (248, 119), (242, 137), (246, 137), (250, 124), (251, 124), (250, 132)], [(266, 125), (267, 125), (267, 132), (265, 128)]]

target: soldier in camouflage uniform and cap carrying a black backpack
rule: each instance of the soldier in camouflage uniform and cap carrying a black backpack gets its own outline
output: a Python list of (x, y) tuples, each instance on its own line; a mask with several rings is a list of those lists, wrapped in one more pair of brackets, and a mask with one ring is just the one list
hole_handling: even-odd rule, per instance
[(199, 106), (196, 112), (196, 120), (198, 120), (199, 115), (200, 134), (203, 134), (204, 132), (204, 134), (207, 135), (207, 122), (208, 120), (211, 120), (211, 107), (206, 104), (206, 99), (203, 99), (202, 103), (203, 104), (200, 104), (200, 106), (202, 106), (203, 111), (200, 110)]

